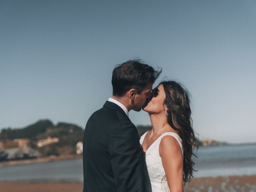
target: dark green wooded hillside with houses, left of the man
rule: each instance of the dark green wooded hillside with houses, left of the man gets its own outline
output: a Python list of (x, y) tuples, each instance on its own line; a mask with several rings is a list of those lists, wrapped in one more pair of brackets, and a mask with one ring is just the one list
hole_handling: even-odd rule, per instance
[[(60, 122), (54, 125), (50, 120), (38, 122), (24, 128), (2, 129), (1, 140), (13, 140), (18, 138), (30, 139), (29, 146), (40, 151), (43, 155), (75, 154), (76, 144), (83, 140), (84, 130), (75, 125)], [(59, 142), (47, 146), (37, 147), (36, 142), (47, 137), (57, 137)]]

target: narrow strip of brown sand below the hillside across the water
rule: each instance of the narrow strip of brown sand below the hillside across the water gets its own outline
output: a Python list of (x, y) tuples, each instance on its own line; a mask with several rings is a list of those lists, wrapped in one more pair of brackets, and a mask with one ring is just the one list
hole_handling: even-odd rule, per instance
[(51, 156), (38, 157), (35, 159), (0, 161), (0, 167), (45, 163), (45, 162), (53, 162), (53, 161), (61, 161), (61, 160), (73, 160), (73, 159), (82, 159), (82, 158), (83, 158), (82, 155), (75, 155), (75, 154), (66, 154), (66, 155), (59, 155), (59, 156), (51, 155)]

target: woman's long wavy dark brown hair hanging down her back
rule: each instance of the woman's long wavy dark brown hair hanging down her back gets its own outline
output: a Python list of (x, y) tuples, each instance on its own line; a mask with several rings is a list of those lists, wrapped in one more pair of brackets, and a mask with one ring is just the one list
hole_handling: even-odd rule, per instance
[(197, 156), (193, 153), (193, 148), (198, 149), (192, 128), (189, 92), (175, 81), (163, 81), (160, 84), (164, 86), (166, 94), (164, 103), (168, 108), (168, 123), (178, 132), (182, 139), (184, 149), (183, 181), (186, 184), (193, 178), (193, 171), (195, 171), (193, 168), (195, 163), (191, 157), (192, 155)]

